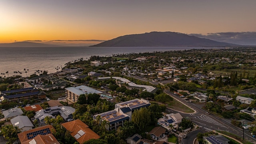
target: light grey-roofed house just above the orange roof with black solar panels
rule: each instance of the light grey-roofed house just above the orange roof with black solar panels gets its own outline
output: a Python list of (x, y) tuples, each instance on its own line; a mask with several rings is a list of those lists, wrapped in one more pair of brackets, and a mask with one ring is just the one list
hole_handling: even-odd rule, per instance
[(13, 126), (18, 126), (21, 132), (31, 130), (34, 127), (28, 116), (16, 116), (11, 119), (11, 123)]

